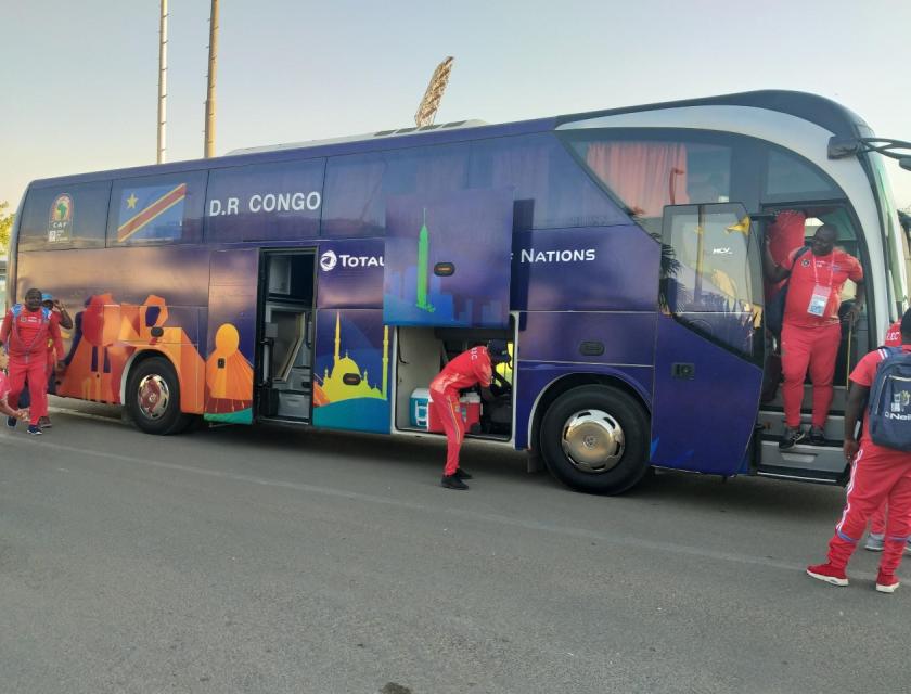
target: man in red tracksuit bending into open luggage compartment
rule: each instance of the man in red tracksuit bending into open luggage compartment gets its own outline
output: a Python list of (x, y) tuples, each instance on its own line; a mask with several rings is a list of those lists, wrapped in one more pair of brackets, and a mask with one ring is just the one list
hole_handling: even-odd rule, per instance
[(440, 485), (447, 489), (467, 489), (462, 481), (472, 476), (459, 467), (459, 451), (465, 438), (465, 421), (459, 404), (459, 391), (474, 385), (480, 385), (489, 399), (490, 380), (493, 377), (493, 364), (510, 360), (506, 343), (491, 339), (487, 347), (472, 347), (450, 361), (436, 378), (431, 382), (431, 407), (446, 430), (446, 467)]

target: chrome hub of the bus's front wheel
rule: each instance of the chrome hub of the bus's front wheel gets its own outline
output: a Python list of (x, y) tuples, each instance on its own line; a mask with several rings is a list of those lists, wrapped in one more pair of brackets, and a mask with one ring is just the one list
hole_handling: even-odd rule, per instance
[(592, 475), (612, 470), (626, 448), (623, 427), (601, 410), (582, 410), (569, 416), (560, 442), (573, 466)]

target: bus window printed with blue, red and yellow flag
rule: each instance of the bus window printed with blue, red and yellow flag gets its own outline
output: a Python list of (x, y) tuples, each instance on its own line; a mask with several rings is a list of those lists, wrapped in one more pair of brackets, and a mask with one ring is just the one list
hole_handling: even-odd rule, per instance
[(114, 182), (107, 245), (197, 243), (202, 237), (204, 171)]

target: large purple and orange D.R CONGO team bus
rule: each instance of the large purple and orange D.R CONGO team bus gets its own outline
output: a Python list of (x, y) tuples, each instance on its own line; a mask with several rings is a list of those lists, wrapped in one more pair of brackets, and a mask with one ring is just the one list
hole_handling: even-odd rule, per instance
[(513, 363), (470, 436), (570, 487), (619, 493), (650, 466), (838, 484), (843, 384), (825, 445), (777, 446), (761, 249), (778, 215), (817, 210), (806, 235), (836, 227), (868, 278), (837, 369), (878, 344), (908, 239), (871, 137), (767, 91), (35, 181), (9, 301), (78, 307), (57, 394), (152, 434), (435, 436), (421, 393), (501, 338)]

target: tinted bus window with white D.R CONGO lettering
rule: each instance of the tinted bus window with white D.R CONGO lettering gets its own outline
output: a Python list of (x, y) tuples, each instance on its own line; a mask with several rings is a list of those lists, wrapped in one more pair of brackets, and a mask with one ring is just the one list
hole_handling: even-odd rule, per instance
[(290, 241), (320, 231), (325, 159), (215, 169), (206, 200), (206, 240)]

